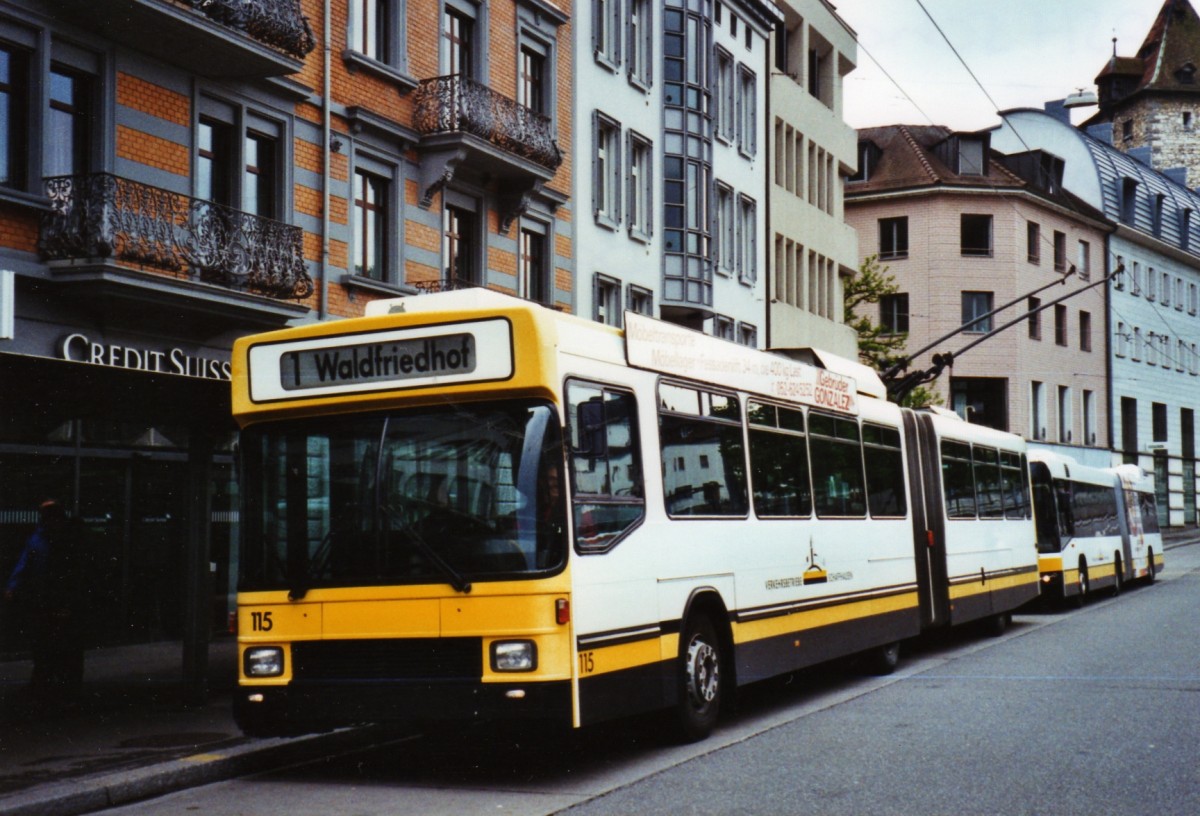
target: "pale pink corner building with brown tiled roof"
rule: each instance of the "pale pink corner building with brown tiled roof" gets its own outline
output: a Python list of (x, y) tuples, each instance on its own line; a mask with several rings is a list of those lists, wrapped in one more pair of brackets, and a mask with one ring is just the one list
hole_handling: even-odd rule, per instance
[(926, 388), (960, 415), (1028, 439), (1106, 449), (1109, 228), (1062, 190), (1062, 161), (1004, 156), (988, 133), (944, 127), (872, 127), (858, 139), (846, 222), (860, 254), (877, 254), (899, 286), (877, 319), (907, 332), (910, 352), (967, 326), (908, 371), (954, 353)]

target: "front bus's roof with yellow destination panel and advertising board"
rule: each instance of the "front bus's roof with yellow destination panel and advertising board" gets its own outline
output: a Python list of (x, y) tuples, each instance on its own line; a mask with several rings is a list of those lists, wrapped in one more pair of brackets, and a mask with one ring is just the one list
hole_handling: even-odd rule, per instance
[(470, 288), (376, 300), (361, 318), (240, 338), (234, 415), (384, 408), (397, 400), (552, 392), (556, 350), (840, 413), (886, 394), (858, 364), (761, 352), (634, 312), (624, 331), (500, 292)]

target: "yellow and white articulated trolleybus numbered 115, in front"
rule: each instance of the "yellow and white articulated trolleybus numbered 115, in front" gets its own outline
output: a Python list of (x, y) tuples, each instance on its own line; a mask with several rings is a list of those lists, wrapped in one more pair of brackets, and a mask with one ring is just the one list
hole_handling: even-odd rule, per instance
[(857, 362), (482, 289), (235, 347), (235, 713), (564, 728), (1003, 626), (1038, 593), (1019, 437)]

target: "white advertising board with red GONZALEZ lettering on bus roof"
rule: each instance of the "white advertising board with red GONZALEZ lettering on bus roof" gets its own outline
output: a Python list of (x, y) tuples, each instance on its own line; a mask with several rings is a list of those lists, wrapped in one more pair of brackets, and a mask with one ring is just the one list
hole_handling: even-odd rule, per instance
[(858, 386), (851, 377), (635, 312), (625, 312), (625, 360), (637, 368), (858, 413)]

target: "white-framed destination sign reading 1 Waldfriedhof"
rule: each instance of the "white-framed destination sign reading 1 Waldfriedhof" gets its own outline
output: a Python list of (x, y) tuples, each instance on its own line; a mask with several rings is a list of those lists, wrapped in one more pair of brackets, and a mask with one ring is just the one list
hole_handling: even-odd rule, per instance
[(512, 328), (493, 318), (263, 343), (248, 362), (256, 402), (508, 379)]

